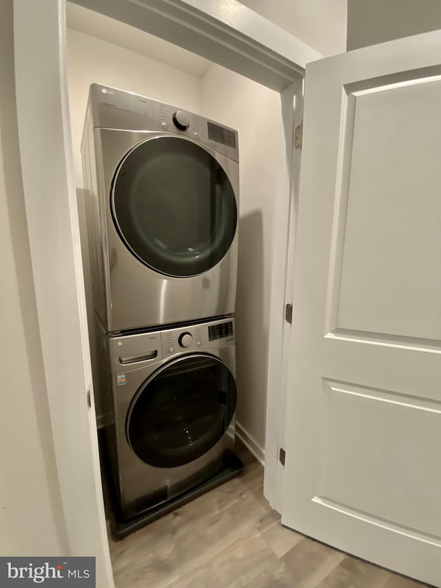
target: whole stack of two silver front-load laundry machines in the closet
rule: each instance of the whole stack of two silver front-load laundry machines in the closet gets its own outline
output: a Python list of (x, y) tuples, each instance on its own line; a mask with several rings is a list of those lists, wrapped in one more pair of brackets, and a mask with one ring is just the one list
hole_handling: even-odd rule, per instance
[(97, 361), (124, 536), (240, 469), (238, 135), (90, 87), (82, 142)]

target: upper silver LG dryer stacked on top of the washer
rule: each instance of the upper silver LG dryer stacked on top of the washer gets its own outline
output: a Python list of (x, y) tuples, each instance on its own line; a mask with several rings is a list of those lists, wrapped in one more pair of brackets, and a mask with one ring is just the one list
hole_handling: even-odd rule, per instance
[(105, 331), (233, 314), (237, 132), (93, 84), (81, 151), (94, 310)]

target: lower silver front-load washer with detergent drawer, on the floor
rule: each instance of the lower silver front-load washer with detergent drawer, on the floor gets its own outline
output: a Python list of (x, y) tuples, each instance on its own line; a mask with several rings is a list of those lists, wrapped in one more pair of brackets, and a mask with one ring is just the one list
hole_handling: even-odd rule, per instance
[(105, 443), (119, 516), (156, 518), (231, 465), (234, 318), (105, 335), (103, 348), (111, 391)]

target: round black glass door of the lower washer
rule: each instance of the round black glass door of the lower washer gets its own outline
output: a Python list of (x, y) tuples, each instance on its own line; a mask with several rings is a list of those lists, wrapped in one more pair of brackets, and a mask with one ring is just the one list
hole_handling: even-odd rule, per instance
[(227, 431), (236, 383), (213, 356), (176, 359), (147, 379), (127, 413), (127, 440), (148, 465), (177, 467), (201, 457)]

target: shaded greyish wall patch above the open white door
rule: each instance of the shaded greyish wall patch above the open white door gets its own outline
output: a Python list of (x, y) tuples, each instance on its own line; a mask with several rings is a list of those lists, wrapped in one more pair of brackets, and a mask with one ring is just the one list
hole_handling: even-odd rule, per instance
[(440, 0), (348, 0), (348, 51), (440, 28)]

